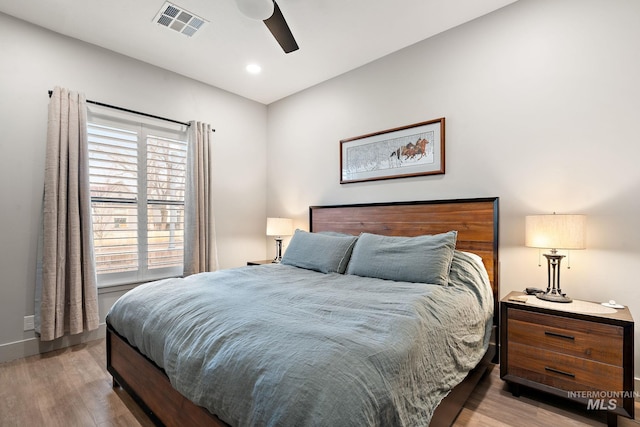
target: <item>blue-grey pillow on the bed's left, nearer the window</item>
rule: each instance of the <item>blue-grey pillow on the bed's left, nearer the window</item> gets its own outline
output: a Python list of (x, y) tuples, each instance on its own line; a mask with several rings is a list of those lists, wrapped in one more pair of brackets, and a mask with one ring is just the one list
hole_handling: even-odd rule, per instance
[(357, 236), (334, 236), (296, 230), (282, 264), (321, 273), (344, 273)]

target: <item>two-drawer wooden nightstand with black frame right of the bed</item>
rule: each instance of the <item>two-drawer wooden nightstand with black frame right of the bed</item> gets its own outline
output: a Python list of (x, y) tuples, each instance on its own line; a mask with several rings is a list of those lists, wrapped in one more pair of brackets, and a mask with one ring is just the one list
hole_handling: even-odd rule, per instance
[(511, 292), (500, 302), (500, 378), (518, 396), (520, 386), (633, 418), (633, 318), (627, 307), (598, 303), (527, 302)]

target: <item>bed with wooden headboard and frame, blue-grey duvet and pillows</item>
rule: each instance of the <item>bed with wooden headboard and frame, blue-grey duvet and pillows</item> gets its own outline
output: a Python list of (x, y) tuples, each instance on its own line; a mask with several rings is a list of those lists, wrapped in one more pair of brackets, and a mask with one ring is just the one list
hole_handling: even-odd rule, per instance
[[(282, 265), (158, 281), (114, 304), (107, 317), (114, 386), (164, 425), (450, 425), (497, 354), (498, 199), (312, 206), (309, 217), (310, 232), (296, 232)], [(441, 251), (452, 233), (451, 277), (440, 277), (441, 267), (416, 270), (447, 283), (412, 279), (414, 266), (404, 260), (392, 264), (408, 276), (390, 280), (397, 277), (384, 277), (389, 268), (377, 258), (389, 254), (371, 249), (418, 242)], [(305, 249), (319, 242), (329, 252), (348, 246), (348, 263), (334, 257), (327, 267), (316, 257), (306, 265), (314, 251)], [(487, 289), (466, 288), (464, 276), (476, 270)], [(491, 307), (458, 302), (469, 298)], [(199, 312), (204, 320), (196, 323)], [(292, 312), (304, 319), (296, 327)], [(445, 316), (468, 316), (469, 330)], [(428, 317), (444, 326), (424, 327)], [(203, 335), (210, 330), (215, 336)], [(436, 336), (446, 345), (431, 345)], [(449, 364), (432, 347), (450, 353)]]

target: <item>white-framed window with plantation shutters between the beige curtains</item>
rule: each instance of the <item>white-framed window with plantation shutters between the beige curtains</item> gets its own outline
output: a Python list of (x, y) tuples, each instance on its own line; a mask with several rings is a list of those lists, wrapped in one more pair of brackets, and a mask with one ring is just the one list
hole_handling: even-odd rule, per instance
[(182, 275), (185, 131), (91, 117), (98, 286)]

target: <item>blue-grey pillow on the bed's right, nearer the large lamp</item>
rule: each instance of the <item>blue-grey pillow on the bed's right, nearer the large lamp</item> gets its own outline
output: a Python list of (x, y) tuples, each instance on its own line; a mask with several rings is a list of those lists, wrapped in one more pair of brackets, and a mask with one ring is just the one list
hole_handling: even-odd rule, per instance
[(347, 274), (446, 286), (457, 237), (457, 231), (417, 237), (362, 233)]

